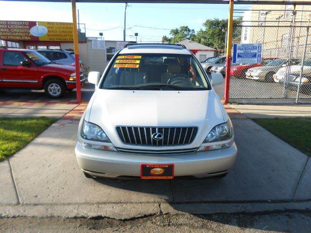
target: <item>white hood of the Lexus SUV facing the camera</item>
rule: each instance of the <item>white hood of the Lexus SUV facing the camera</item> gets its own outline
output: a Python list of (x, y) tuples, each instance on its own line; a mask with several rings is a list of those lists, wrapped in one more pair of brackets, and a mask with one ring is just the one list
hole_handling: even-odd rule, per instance
[[(198, 126), (195, 147), (199, 147), (210, 130), (227, 116), (220, 100), (208, 91), (104, 90), (94, 93), (89, 117), (99, 125), (116, 147), (116, 126)], [(201, 135), (201, 136), (200, 136)]]

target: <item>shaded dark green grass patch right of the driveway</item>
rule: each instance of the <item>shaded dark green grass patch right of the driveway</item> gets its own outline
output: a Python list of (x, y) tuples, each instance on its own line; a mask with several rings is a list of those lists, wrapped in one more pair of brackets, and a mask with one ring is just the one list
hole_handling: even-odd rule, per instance
[(311, 117), (254, 118), (252, 120), (311, 157)]

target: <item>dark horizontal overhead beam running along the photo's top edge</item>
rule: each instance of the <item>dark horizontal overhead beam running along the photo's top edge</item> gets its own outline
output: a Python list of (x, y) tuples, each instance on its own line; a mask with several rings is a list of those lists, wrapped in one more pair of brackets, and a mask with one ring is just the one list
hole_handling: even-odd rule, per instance
[[(4, 1), (46, 1), (71, 2), (71, 0), (4, 0)], [(201, 3), (201, 4), (229, 4), (230, 0), (76, 0), (76, 2), (104, 2), (104, 3)], [(237, 5), (311, 5), (310, 0), (234, 0)]]

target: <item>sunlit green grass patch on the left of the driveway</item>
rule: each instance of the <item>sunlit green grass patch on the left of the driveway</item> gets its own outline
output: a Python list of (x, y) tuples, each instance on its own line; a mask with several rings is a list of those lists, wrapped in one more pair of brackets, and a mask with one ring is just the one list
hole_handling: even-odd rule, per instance
[(0, 118), (0, 161), (22, 149), (55, 121), (47, 117)]

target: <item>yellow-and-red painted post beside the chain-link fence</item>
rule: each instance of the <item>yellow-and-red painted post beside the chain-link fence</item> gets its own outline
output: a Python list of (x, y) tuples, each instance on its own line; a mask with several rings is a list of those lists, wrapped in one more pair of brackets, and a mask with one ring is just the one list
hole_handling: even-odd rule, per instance
[(232, 46), (232, 30), (233, 30), (233, 3), (234, 0), (229, 1), (227, 52), (225, 60), (225, 97), (223, 101), (224, 103), (229, 102), (230, 64), (231, 64), (231, 46)]

